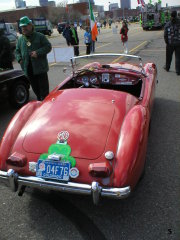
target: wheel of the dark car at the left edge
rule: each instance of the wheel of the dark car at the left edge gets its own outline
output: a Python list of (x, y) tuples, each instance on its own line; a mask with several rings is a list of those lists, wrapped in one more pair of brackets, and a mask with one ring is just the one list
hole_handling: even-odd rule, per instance
[(13, 107), (20, 108), (29, 100), (29, 87), (24, 81), (14, 83), (9, 90), (9, 102)]

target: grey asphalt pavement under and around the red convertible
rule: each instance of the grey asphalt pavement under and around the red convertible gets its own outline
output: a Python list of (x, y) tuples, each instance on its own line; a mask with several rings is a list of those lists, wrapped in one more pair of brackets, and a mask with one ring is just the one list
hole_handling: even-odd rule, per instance
[[(80, 53), (83, 54), (83, 31)], [(65, 46), (61, 35), (49, 40)], [(123, 52), (118, 33), (102, 29), (96, 53)], [(146, 171), (133, 194), (124, 200), (102, 199), (28, 189), (22, 196), (0, 186), (0, 240), (178, 240), (180, 239), (180, 76), (174, 58), (170, 72), (163, 69), (163, 31), (143, 31), (130, 25), (129, 52), (143, 62), (154, 62), (158, 85), (151, 120)], [(123, 59), (122, 59), (123, 60)], [(14, 62), (15, 67), (19, 67)], [(70, 71), (70, 70), (69, 70)], [(51, 64), (50, 88), (66, 76), (63, 66)], [(30, 99), (35, 99), (32, 90)], [(0, 101), (0, 138), (16, 110)]]

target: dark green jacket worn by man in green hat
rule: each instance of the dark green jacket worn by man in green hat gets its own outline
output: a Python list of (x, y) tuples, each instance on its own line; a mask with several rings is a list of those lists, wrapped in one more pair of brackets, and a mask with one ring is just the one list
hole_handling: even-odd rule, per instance
[(20, 36), (16, 45), (16, 59), (18, 62), (22, 60), (21, 68), (25, 75), (27, 74), (27, 68), (30, 59), (30, 53), (36, 51), (38, 57), (31, 58), (33, 74), (45, 73), (49, 70), (47, 54), (51, 51), (51, 43), (47, 38), (38, 32), (33, 32), (30, 37)]

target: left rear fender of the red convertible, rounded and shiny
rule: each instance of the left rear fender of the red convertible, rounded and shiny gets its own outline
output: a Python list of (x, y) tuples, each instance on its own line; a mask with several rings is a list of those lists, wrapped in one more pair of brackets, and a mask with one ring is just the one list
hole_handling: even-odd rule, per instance
[(29, 117), (41, 102), (33, 101), (22, 107), (9, 123), (0, 144), (0, 169), (5, 169), (5, 161), (9, 157), (13, 144)]

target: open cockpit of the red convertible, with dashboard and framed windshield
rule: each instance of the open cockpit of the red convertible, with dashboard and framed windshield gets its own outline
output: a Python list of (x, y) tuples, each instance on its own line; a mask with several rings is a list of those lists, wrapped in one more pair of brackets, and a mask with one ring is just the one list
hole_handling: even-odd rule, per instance
[[(139, 63), (138, 63), (139, 61)], [(137, 98), (143, 95), (144, 70), (139, 56), (93, 54), (71, 59), (72, 77), (59, 90), (98, 88), (123, 91)]]

